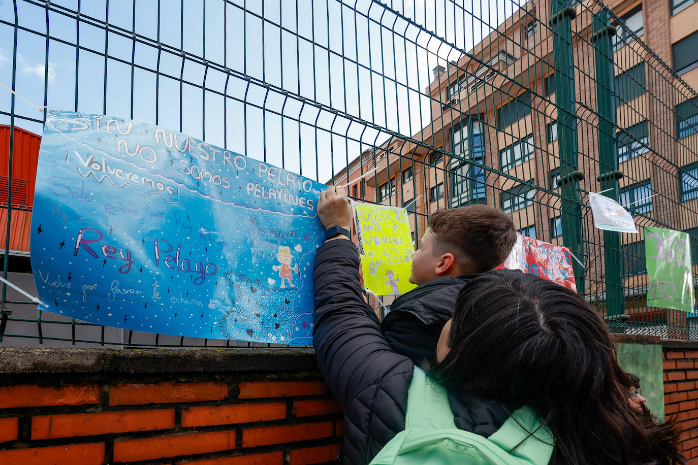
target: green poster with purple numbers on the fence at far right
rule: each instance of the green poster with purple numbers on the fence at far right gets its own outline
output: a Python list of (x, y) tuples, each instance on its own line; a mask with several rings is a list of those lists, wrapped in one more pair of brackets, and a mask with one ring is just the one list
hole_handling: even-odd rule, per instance
[(644, 227), (647, 305), (693, 311), (690, 236), (673, 229)]

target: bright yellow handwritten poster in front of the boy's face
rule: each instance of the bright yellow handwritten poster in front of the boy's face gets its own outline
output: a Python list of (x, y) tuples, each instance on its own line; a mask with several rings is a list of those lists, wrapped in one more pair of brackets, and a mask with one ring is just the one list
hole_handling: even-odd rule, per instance
[(405, 294), (414, 289), (412, 236), (405, 208), (354, 204), (364, 287), (379, 296)]

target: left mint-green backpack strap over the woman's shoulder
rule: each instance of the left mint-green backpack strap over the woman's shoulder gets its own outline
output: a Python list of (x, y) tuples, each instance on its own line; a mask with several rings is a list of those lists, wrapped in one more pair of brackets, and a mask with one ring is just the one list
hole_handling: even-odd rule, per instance
[(407, 393), (405, 429), (455, 427), (446, 389), (426, 376), (423, 369), (415, 367), (412, 383), (410, 383), (410, 389)]

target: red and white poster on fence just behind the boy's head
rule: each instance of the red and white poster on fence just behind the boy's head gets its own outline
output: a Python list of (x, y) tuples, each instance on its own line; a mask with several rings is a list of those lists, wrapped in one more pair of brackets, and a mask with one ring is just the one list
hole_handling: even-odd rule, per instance
[(577, 291), (570, 249), (517, 233), (509, 257), (497, 269), (521, 270)]

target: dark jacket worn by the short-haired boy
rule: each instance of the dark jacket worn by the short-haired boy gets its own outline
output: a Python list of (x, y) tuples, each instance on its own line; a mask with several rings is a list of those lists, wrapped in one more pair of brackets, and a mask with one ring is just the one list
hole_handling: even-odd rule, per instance
[(380, 330), (394, 351), (417, 365), (435, 359), (436, 343), (446, 321), (451, 319), (456, 297), (463, 285), (476, 276), (442, 277), (396, 298), (380, 323)]

